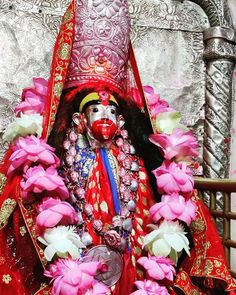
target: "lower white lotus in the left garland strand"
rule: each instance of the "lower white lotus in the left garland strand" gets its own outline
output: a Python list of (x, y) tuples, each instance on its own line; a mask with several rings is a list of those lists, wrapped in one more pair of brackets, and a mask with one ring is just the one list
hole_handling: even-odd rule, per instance
[(57, 226), (46, 229), (43, 237), (38, 240), (46, 245), (44, 257), (47, 261), (51, 261), (53, 256), (66, 258), (68, 254), (73, 259), (80, 257), (79, 249), (86, 248), (81, 242), (79, 235), (75, 231), (75, 226)]

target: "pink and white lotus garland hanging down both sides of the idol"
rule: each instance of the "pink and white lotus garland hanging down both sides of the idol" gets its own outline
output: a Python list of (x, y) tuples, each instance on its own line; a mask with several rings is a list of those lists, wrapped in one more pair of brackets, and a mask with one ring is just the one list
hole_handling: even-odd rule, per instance
[[(90, 237), (80, 236), (76, 230), (82, 220), (66, 201), (71, 198), (57, 172), (60, 160), (54, 148), (40, 138), (47, 81), (35, 78), (33, 82), (34, 88), (23, 91), (23, 101), (15, 109), (16, 120), (4, 134), (5, 140), (16, 140), (8, 176), (23, 171), (22, 198), (39, 202), (36, 229), (38, 240), (44, 246), (45, 259), (54, 261), (45, 271), (45, 276), (53, 282), (52, 294), (105, 295), (109, 288), (95, 279), (97, 270), (103, 266), (86, 261), (81, 255)], [(192, 157), (198, 154), (198, 145), (191, 131), (180, 124), (180, 113), (161, 100), (153, 88), (148, 86), (144, 90), (151, 119), (158, 126), (158, 133), (151, 135), (150, 141), (163, 151), (165, 158), (162, 166), (153, 171), (163, 195), (161, 202), (150, 209), (152, 231), (143, 239), (143, 249), (148, 255), (138, 260), (146, 270), (147, 279), (136, 281), (138, 290), (132, 294), (169, 294), (166, 281), (174, 280), (178, 257), (183, 250), (190, 255), (189, 241), (181, 223), (189, 225), (195, 219), (196, 205), (191, 200), (193, 176), (189, 165)], [(45, 192), (47, 195), (42, 199)]]

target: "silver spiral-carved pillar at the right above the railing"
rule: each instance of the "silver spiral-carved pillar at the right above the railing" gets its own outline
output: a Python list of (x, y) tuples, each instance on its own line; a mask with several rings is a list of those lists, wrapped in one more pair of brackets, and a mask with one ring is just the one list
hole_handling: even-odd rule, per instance
[(204, 174), (227, 178), (230, 160), (232, 75), (236, 62), (236, 34), (232, 28), (213, 27), (204, 32), (206, 106)]

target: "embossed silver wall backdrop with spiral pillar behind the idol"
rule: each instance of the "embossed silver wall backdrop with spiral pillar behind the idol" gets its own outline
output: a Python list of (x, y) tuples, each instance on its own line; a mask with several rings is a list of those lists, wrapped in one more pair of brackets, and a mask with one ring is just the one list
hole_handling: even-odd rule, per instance
[[(13, 119), (21, 89), (30, 86), (32, 77), (48, 77), (53, 44), (69, 2), (0, 0), (1, 134)], [(184, 123), (194, 130), (201, 144), (204, 173), (227, 176), (229, 145), (225, 138), (229, 138), (230, 130), (235, 54), (230, 47), (235, 36), (230, 36), (233, 25), (228, 2), (130, 0), (129, 5), (132, 41), (143, 84), (153, 86), (182, 112)], [(212, 31), (212, 27), (218, 29)], [(219, 45), (218, 37), (223, 37), (224, 43)], [(219, 114), (212, 111), (216, 96), (220, 98)], [(205, 112), (210, 120), (205, 119)], [(1, 157), (7, 144), (0, 143)], [(214, 149), (218, 149), (218, 157)]]

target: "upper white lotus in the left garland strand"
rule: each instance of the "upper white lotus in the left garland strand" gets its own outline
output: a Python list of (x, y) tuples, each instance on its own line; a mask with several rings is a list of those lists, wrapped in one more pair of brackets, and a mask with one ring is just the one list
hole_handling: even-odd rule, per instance
[(39, 114), (20, 114), (20, 117), (8, 125), (3, 134), (3, 140), (12, 141), (18, 136), (37, 134), (39, 137), (42, 133), (43, 117)]

